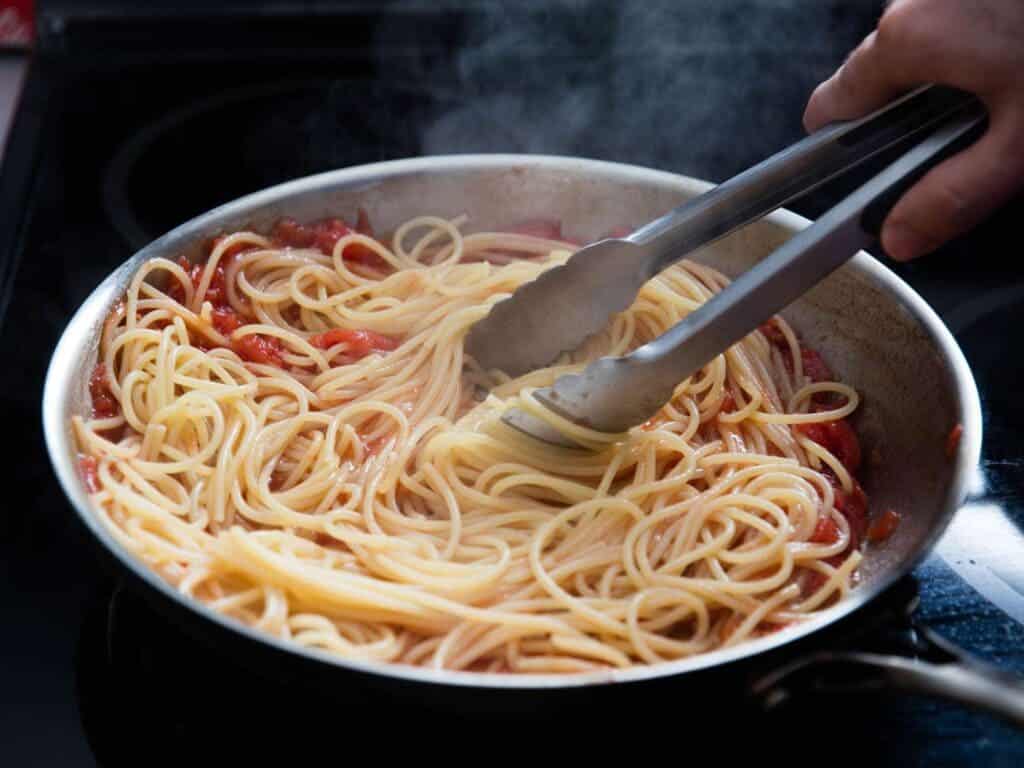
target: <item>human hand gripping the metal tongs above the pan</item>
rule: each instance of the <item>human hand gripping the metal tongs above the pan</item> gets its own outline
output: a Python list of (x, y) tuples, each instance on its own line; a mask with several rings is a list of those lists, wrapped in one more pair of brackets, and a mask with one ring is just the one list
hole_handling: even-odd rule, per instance
[(1024, 186), (1024, 2), (894, 0), (874, 32), (811, 94), (815, 131), (861, 117), (925, 83), (977, 95), (989, 126), (908, 189), (882, 228), (895, 259), (928, 253), (981, 222)]

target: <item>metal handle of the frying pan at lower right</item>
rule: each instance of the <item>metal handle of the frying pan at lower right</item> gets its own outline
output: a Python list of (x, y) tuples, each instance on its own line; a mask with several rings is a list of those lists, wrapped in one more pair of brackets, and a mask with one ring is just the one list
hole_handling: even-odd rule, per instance
[(914, 646), (930, 658), (866, 651), (821, 651), (797, 659), (754, 684), (754, 694), (774, 709), (800, 690), (897, 690), (955, 701), (1024, 728), (1024, 680), (974, 658), (916, 624)]

